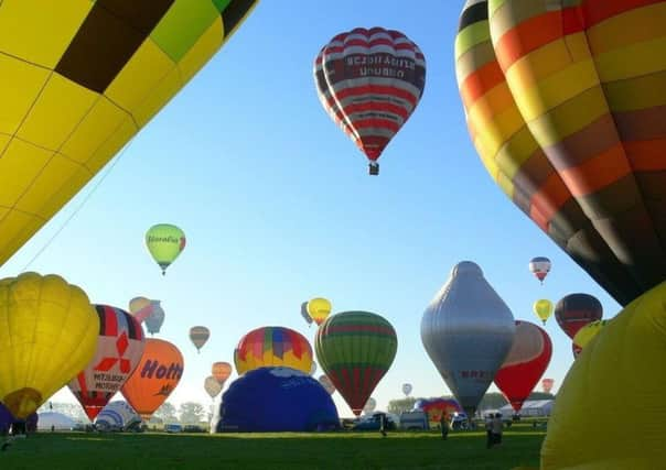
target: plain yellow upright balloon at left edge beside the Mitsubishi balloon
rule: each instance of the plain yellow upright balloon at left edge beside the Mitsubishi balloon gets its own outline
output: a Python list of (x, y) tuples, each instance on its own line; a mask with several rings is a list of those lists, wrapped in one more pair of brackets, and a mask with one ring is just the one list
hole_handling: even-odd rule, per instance
[(93, 360), (99, 318), (83, 289), (55, 274), (0, 280), (0, 402), (35, 412)]

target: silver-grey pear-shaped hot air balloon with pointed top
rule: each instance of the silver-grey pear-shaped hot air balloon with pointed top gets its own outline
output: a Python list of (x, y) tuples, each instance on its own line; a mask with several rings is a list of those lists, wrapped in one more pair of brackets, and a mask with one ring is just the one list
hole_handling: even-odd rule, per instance
[(421, 320), (421, 340), (468, 416), (491, 385), (514, 341), (514, 316), (483, 277), (463, 261), (434, 296)]

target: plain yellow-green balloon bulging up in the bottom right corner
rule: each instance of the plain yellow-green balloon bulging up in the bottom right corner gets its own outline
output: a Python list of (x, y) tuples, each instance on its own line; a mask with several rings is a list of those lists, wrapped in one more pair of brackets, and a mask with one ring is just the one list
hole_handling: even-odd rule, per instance
[(562, 386), (543, 470), (642, 470), (666, 462), (666, 282), (600, 329)]

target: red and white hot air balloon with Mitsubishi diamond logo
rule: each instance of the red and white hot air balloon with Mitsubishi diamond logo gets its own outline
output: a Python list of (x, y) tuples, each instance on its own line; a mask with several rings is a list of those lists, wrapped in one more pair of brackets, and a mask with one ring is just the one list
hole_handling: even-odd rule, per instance
[(97, 351), (68, 383), (69, 390), (94, 420), (132, 374), (146, 346), (139, 321), (120, 308), (94, 305), (99, 317)]

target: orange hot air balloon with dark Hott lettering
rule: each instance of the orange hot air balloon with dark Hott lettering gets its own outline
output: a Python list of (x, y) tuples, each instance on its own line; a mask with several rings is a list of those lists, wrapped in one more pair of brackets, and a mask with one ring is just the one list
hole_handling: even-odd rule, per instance
[(120, 390), (122, 396), (148, 420), (176, 387), (183, 369), (183, 356), (174, 345), (148, 338), (141, 362)]

